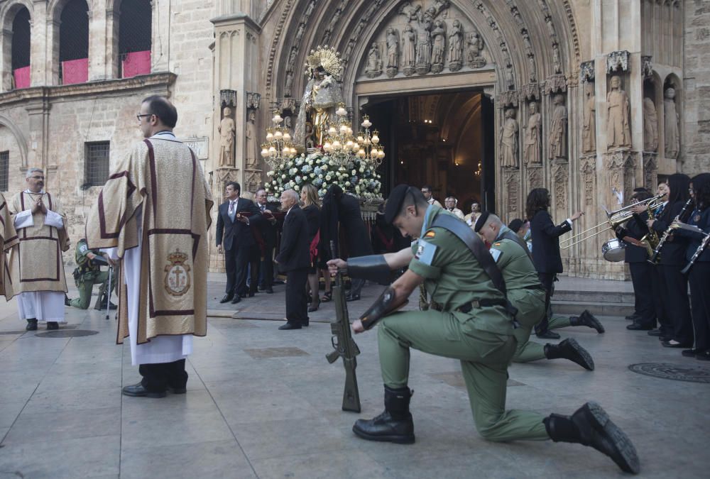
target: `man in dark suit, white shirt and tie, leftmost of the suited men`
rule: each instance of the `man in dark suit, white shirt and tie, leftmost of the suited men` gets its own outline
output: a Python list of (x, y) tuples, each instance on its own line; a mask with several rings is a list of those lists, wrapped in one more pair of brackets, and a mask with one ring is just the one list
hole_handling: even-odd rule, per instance
[(226, 202), (219, 205), (217, 213), (217, 252), (224, 253), (226, 269), (226, 294), (221, 303), (236, 304), (245, 293), (246, 265), (256, 245), (249, 227), (258, 227), (261, 221), (259, 209), (251, 200), (240, 198), (240, 192), (239, 183), (227, 183)]

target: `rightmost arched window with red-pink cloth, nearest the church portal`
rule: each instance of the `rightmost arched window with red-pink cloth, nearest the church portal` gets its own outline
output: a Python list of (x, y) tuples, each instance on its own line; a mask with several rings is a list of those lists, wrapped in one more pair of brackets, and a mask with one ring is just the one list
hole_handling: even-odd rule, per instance
[(151, 2), (123, 0), (119, 22), (119, 77), (148, 75), (151, 72)]

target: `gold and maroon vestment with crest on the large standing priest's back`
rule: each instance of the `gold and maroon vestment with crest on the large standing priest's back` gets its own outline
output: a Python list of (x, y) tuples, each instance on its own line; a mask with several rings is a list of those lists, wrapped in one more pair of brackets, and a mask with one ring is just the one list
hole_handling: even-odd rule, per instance
[(151, 138), (138, 143), (111, 172), (89, 213), (86, 238), (89, 248), (116, 248), (120, 258), (117, 343), (129, 336), (123, 263), (126, 250), (138, 246), (139, 231), (141, 294), (136, 342), (207, 333), (211, 207), (202, 167), (180, 141)]

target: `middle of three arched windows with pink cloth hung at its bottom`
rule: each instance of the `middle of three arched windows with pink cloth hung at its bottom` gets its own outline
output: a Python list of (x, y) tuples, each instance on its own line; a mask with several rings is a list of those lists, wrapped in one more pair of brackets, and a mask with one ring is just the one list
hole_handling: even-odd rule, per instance
[(59, 26), (60, 83), (84, 83), (89, 79), (89, 6), (70, 0), (62, 9)]

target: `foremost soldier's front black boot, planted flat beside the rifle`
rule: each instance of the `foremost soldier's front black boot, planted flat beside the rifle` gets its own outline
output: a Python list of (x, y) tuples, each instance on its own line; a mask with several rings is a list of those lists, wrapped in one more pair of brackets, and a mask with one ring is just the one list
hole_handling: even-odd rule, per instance
[(410, 397), (412, 392), (408, 387), (392, 389), (385, 386), (385, 412), (374, 419), (358, 419), (353, 432), (368, 441), (412, 444), (414, 422), (409, 412)]

